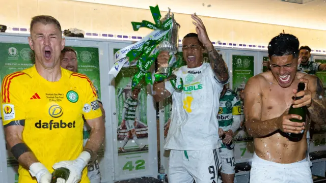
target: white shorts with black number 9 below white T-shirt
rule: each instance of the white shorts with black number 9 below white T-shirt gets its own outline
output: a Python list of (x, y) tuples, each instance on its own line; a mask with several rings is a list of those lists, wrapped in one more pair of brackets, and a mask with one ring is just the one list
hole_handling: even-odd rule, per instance
[(169, 158), (169, 183), (218, 182), (221, 157), (219, 149), (171, 150)]

